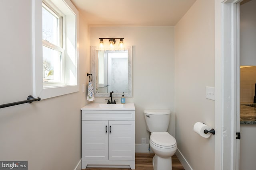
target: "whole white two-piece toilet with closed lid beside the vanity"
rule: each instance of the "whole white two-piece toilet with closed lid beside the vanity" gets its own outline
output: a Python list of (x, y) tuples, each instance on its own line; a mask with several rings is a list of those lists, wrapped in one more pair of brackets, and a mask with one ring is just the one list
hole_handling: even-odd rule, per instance
[(147, 130), (151, 132), (149, 144), (155, 153), (154, 170), (172, 170), (172, 155), (176, 152), (176, 140), (167, 131), (170, 122), (170, 110), (144, 110)]

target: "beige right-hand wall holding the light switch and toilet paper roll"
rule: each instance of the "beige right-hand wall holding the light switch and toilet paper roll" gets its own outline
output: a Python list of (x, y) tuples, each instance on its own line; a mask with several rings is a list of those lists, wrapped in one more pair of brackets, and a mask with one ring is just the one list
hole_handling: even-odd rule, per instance
[(194, 170), (214, 170), (214, 136), (193, 131), (197, 121), (214, 127), (214, 0), (197, 0), (175, 25), (175, 112), (178, 149)]

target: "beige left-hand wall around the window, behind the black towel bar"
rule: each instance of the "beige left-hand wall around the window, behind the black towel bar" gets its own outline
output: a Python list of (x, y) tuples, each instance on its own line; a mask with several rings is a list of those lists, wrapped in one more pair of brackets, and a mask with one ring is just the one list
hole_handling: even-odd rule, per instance
[[(0, 104), (6, 104), (33, 94), (32, 0), (0, 6)], [(28, 160), (30, 170), (74, 170), (81, 159), (80, 108), (87, 103), (82, 84), (90, 70), (90, 44), (81, 17), (79, 24), (80, 91), (0, 109), (0, 160)]]

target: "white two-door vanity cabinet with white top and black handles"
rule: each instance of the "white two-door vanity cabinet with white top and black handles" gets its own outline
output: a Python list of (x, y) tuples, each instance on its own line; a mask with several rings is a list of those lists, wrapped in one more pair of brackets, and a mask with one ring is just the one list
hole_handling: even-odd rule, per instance
[(82, 168), (135, 169), (134, 104), (124, 104), (122, 108), (89, 104), (81, 110)]

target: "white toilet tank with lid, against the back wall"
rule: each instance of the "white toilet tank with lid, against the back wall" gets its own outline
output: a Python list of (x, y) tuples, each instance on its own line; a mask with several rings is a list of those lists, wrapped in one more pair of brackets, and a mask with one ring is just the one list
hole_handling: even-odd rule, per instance
[(144, 110), (147, 130), (150, 132), (166, 132), (170, 122), (170, 110), (148, 109)]

